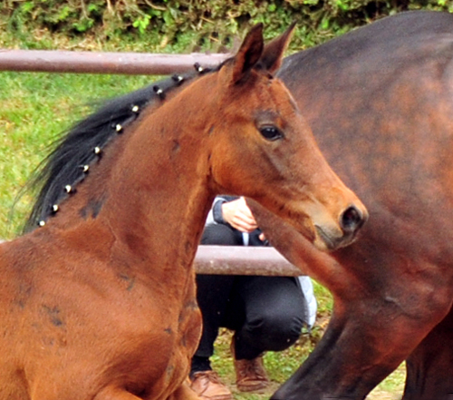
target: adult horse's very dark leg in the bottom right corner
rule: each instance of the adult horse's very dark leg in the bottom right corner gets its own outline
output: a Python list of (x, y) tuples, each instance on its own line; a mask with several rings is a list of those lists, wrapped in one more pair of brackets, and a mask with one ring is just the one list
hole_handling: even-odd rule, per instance
[(404, 400), (453, 400), (453, 311), (407, 360)]

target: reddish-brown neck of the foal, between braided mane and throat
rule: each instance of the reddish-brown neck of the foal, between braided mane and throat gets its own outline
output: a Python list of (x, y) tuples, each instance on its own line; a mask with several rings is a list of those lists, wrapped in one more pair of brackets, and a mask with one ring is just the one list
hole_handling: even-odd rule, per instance
[[(144, 115), (111, 167), (99, 218), (121, 246), (169, 268), (191, 262), (214, 193), (209, 189), (209, 127), (215, 112), (207, 92), (189, 87)], [(182, 260), (182, 261), (181, 261)], [(184, 267), (184, 265), (181, 265)]]

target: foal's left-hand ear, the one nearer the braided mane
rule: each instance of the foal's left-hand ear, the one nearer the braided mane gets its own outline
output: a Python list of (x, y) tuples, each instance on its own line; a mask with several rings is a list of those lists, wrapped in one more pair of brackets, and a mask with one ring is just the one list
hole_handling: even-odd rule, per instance
[(264, 47), (263, 24), (255, 24), (235, 55), (233, 83), (240, 81), (258, 63)]

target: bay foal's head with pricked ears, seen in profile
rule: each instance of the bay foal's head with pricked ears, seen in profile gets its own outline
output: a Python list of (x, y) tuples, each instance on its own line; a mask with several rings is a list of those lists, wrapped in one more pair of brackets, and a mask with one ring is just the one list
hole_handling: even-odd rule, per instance
[(217, 192), (246, 195), (288, 220), (319, 249), (351, 243), (367, 219), (333, 173), (284, 83), (276, 79), (292, 26), (264, 46), (262, 26), (217, 73), (210, 157)]

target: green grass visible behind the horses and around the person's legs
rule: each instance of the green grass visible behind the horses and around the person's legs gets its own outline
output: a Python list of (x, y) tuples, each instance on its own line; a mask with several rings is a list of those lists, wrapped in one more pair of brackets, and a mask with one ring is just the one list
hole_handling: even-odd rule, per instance
[[(10, 210), (15, 197), (47, 154), (49, 144), (90, 111), (86, 104), (128, 93), (154, 79), (146, 76), (0, 73), (0, 238), (13, 239), (20, 229), (33, 198), (24, 196), (16, 204), (11, 218)], [(323, 335), (333, 307), (332, 297), (325, 288), (315, 284), (315, 294), (319, 317), (312, 333), (304, 333), (295, 346), (284, 352), (265, 355), (272, 387), (260, 395), (235, 392), (237, 399), (268, 398), (313, 351)], [(231, 334), (227, 331), (223, 331), (218, 338), (213, 365), (225, 382), (234, 388), (230, 338)], [(379, 395), (373, 398), (399, 398), (403, 380), (404, 370), (401, 367), (379, 386)], [(385, 397), (389, 394), (392, 397)]]

